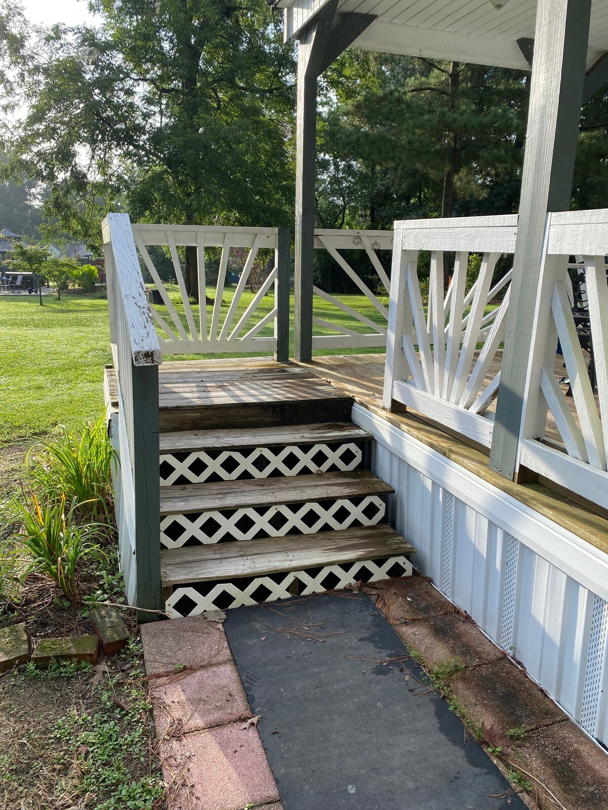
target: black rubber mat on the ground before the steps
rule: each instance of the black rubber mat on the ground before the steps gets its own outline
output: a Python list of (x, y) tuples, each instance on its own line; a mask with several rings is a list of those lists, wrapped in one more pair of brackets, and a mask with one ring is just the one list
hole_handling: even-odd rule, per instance
[(285, 810), (525, 808), (366, 595), (238, 608), (224, 626)]

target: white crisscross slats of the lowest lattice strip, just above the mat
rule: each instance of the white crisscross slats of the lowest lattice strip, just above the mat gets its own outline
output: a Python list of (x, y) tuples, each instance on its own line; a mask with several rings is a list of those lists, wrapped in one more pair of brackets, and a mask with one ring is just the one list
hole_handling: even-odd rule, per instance
[[(378, 582), (380, 579), (388, 579), (388, 572), (395, 565), (400, 565), (403, 569), (400, 576), (411, 576), (412, 565), (405, 559), (405, 556), (389, 557), (387, 560), (379, 561), (362, 560), (341, 565), (326, 565), (318, 573), (310, 573), (310, 571), (306, 570), (289, 571), (285, 575), (280, 575), (279, 582), (275, 582), (270, 577), (256, 577), (246, 586), (241, 587), (239, 587), (238, 579), (232, 582), (218, 582), (206, 595), (199, 593), (193, 586), (178, 587), (167, 599), (165, 609), (170, 616), (177, 618), (178, 616), (197, 616), (205, 611), (217, 610), (218, 608), (241, 608), (244, 605), (259, 604), (261, 601), (276, 602), (278, 599), (290, 599), (293, 596), (293, 593), (289, 591), (289, 587), (292, 586), (293, 582), (298, 582), (300, 586), (304, 586), (301, 595), (319, 594), (325, 590), (343, 590), (355, 585), (361, 578), (363, 571), (370, 574), (366, 582)], [(328, 588), (323, 582), (330, 574), (333, 574), (338, 579), (338, 582), (332, 582), (332, 587)], [(269, 594), (263, 600), (256, 600), (253, 595), (260, 586), (265, 587)], [(233, 600), (228, 605), (225, 603), (226, 595)], [(184, 596), (195, 603), (195, 608), (187, 613), (181, 613), (176, 608)], [(216, 603), (220, 598), (221, 603)]]

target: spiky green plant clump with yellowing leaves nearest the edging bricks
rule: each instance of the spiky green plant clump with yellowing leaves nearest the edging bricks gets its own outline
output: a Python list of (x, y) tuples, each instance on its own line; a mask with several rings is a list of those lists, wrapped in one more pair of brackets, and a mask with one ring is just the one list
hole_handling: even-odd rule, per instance
[(24, 502), (15, 503), (23, 529), (15, 535), (31, 561), (25, 575), (36, 571), (57, 582), (72, 604), (80, 603), (80, 590), (75, 578), (79, 560), (91, 551), (93, 524), (79, 525), (74, 498), (69, 508), (65, 494), (58, 501), (44, 501), (30, 491)]

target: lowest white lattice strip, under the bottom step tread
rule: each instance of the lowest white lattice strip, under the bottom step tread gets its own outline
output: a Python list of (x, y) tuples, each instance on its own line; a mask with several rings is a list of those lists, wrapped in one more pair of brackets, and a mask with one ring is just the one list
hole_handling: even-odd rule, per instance
[(392, 577), (409, 577), (411, 574), (411, 563), (405, 556), (396, 556), (376, 561), (326, 565), (321, 569), (235, 579), (231, 582), (199, 583), (196, 586), (176, 588), (167, 599), (165, 609), (173, 618), (196, 616), (208, 610), (276, 602), (277, 599), (291, 599), (294, 595), (306, 596), (323, 593), (325, 590), (343, 590), (356, 582), (377, 582)]

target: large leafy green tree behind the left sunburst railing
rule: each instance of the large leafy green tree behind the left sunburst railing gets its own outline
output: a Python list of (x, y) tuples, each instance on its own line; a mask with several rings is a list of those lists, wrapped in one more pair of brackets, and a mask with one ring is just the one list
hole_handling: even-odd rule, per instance
[[(6, 136), (5, 175), (48, 183), (47, 237), (98, 249), (99, 220), (287, 224), (293, 46), (263, 0), (95, 0), (100, 28), (28, 28), (0, 15), (27, 113)], [(0, 71), (1, 72), (1, 71)], [(197, 296), (196, 251), (186, 287)]]

